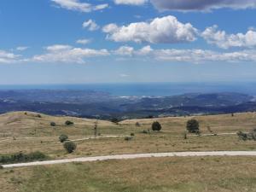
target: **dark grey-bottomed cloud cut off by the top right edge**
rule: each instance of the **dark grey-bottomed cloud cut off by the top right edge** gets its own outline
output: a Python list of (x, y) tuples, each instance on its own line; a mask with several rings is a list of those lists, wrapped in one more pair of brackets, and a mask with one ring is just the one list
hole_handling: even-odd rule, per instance
[(160, 10), (209, 11), (212, 9), (255, 9), (256, 0), (151, 0)]

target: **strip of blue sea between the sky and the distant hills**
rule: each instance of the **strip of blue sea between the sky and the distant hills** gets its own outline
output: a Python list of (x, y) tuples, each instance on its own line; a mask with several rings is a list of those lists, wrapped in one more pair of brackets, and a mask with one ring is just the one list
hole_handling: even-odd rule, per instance
[(185, 93), (237, 92), (256, 96), (256, 82), (0, 85), (0, 90), (96, 90), (113, 96), (175, 96)]

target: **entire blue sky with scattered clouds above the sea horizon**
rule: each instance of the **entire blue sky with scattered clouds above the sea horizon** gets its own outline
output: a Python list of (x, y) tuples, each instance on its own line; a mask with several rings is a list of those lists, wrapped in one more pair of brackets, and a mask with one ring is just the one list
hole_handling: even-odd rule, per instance
[(0, 1), (0, 84), (255, 79), (256, 0)]

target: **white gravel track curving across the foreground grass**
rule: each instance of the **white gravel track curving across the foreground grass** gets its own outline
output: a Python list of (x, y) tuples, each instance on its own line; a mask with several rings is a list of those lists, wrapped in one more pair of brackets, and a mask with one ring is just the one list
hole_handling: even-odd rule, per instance
[(191, 156), (253, 156), (256, 157), (256, 151), (205, 151), (205, 152), (172, 152), (172, 153), (154, 153), (154, 154), (116, 154), (108, 156), (82, 157), (65, 160), (45, 160), (29, 163), (18, 163), (3, 165), (3, 168), (14, 168), (22, 166), (45, 166), (71, 162), (90, 162), (97, 160), (132, 160), (151, 157), (191, 157)]

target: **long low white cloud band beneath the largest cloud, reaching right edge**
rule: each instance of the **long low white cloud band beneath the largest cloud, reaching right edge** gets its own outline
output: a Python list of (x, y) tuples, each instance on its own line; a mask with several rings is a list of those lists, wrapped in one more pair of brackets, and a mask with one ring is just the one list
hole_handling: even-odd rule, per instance
[(120, 47), (114, 51), (115, 55), (132, 58), (148, 59), (149, 61), (175, 61), (175, 62), (240, 62), (256, 61), (256, 50), (246, 49), (235, 52), (217, 52), (205, 49), (152, 49), (150, 46), (142, 49)]

